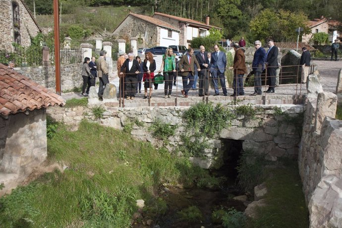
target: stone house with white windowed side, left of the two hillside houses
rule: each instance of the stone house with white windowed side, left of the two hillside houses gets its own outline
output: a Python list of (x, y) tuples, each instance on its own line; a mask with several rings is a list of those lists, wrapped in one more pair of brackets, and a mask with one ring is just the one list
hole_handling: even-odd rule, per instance
[(128, 40), (137, 38), (137, 48), (179, 45), (177, 27), (157, 18), (129, 13), (117, 26), (113, 36)]

